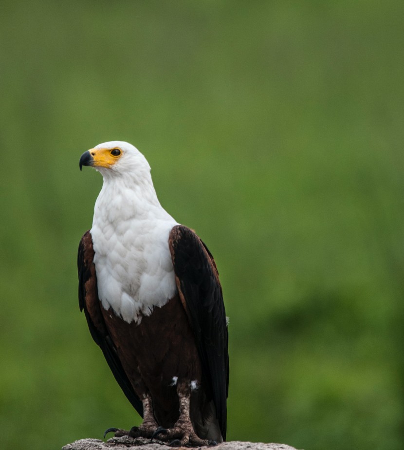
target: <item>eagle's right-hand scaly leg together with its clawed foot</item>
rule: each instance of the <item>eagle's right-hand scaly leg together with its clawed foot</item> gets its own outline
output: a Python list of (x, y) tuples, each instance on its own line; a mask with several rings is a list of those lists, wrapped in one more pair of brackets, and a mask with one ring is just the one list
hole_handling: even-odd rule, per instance
[(172, 428), (158, 428), (153, 437), (159, 436), (158, 438), (161, 440), (172, 441), (170, 445), (173, 447), (216, 445), (215, 441), (201, 439), (194, 431), (189, 415), (189, 400), (191, 397), (189, 384), (178, 383), (177, 393), (180, 400), (180, 416), (177, 422)]

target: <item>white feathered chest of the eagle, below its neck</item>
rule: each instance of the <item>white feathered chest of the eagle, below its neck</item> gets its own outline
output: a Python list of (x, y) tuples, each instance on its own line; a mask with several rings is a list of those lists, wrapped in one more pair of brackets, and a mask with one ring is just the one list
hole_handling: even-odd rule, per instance
[(128, 199), (106, 205), (100, 197), (91, 229), (98, 296), (105, 309), (139, 323), (177, 292), (168, 248), (177, 223), (160, 205), (141, 211)]

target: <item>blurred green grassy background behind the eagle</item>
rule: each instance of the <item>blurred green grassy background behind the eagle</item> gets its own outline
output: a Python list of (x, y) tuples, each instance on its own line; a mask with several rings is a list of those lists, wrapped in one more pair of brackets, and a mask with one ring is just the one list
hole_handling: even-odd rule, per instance
[(402, 1), (3, 1), (0, 429), (54, 450), (139, 423), (77, 302), (127, 140), (218, 263), (228, 439), (402, 449)]

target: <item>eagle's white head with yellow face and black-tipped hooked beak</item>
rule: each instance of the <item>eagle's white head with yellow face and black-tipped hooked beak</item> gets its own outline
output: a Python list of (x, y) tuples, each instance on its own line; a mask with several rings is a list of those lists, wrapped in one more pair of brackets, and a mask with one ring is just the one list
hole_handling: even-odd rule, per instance
[(98, 144), (85, 151), (80, 158), (83, 166), (92, 166), (104, 178), (129, 176), (135, 179), (149, 177), (150, 166), (147, 159), (133, 145), (123, 141), (110, 141)]

